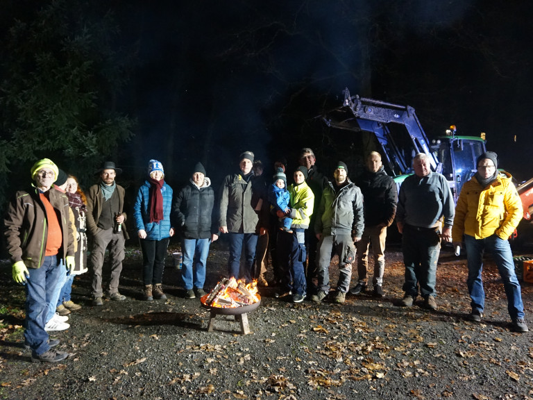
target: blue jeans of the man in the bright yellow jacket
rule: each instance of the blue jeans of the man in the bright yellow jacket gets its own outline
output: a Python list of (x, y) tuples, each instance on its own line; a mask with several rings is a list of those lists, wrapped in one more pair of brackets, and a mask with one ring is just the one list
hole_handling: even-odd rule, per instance
[(496, 235), (489, 238), (475, 239), (473, 236), (464, 235), (466, 246), (466, 259), (468, 260), (468, 293), (471, 298), (472, 310), (481, 313), (485, 306), (485, 292), (481, 272), (483, 270), (483, 253), (485, 249), (492, 252), (498, 272), (503, 281), (503, 288), (507, 295), (507, 310), (511, 319), (524, 317), (524, 306), (520, 283), (514, 272), (513, 254), (508, 240), (498, 238)]

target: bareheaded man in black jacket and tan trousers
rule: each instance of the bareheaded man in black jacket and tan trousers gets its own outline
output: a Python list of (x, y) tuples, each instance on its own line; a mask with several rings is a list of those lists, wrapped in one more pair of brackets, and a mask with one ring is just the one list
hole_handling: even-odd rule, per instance
[(387, 227), (391, 226), (396, 215), (398, 194), (394, 179), (387, 175), (381, 163), (381, 155), (372, 151), (366, 158), (367, 170), (357, 181), (364, 197), (364, 232), (357, 246), (358, 283), (350, 290), (359, 294), (366, 290), (366, 269), (369, 265), (369, 244), (372, 242), (374, 253), (373, 294), (383, 297), (383, 272), (385, 269), (385, 239)]

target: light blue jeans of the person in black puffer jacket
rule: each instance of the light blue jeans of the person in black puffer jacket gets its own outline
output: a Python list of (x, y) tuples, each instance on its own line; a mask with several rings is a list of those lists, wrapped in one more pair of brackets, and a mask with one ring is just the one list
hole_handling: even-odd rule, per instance
[(186, 290), (203, 289), (205, 283), (205, 264), (208, 261), (210, 239), (183, 239), (183, 265), (181, 278)]

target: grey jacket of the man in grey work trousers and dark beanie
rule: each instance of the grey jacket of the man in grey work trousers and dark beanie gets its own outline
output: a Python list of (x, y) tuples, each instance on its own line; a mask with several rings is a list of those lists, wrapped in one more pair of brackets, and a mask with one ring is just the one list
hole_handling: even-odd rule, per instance
[(361, 238), (364, 229), (361, 190), (349, 179), (348, 184), (337, 192), (333, 185), (335, 183), (329, 182), (322, 192), (314, 224), (315, 233), (353, 235), (354, 238)]

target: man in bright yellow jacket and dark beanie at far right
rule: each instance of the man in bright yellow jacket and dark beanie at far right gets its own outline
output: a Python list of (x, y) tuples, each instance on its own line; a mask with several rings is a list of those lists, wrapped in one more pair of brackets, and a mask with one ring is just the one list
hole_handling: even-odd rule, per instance
[(483, 253), (487, 249), (492, 252), (502, 277), (512, 328), (516, 332), (527, 332), (520, 283), (507, 240), (522, 218), (522, 203), (511, 175), (498, 172), (496, 153), (482, 153), (476, 165), (477, 172), (464, 184), (457, 200), (452, 228), (454, 247), (462, 247), (463, 236), (466, 247), (466, 283), (472, 306), (468, 319), (480, 322), (483, 316), (485, 293), (481, 273)]

